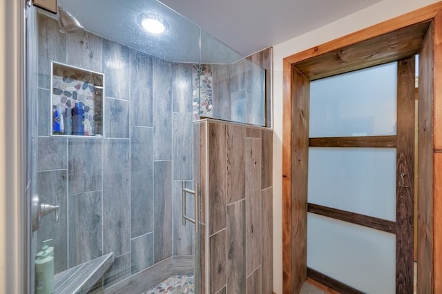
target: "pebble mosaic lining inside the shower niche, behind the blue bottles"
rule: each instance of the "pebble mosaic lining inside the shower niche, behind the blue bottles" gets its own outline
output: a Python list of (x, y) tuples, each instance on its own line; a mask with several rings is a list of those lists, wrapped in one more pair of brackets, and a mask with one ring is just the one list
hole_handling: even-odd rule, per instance
[[(52, 107), (71, 110), (76, 102), (84, 108), (84, 135), (102, 135), (102, 75), (54, 63), (52, 75)], [(66, 124), (67, 122), (65, 122)]]

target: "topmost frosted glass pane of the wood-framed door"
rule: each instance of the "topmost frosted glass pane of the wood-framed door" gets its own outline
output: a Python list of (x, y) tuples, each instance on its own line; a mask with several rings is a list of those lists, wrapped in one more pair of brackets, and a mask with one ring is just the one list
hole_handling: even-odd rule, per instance
[(310, 84), (309, 137), (396, 135), (397, 63)]

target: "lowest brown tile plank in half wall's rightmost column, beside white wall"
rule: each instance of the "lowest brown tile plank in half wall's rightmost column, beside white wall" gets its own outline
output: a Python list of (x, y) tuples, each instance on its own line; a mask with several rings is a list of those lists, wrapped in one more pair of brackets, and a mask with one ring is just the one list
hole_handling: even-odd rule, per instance
[(262, 293), (273, 293), (273, 190), (261, 191), (262, 197)]

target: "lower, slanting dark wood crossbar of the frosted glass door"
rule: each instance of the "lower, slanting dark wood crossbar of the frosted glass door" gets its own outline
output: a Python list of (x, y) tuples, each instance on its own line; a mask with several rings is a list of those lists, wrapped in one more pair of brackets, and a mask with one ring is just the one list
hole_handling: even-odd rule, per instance
[(312, 203), (309, 203), (308, 212), (316, 215), (323, 215), (325, 217), (331, 217), (343, 222), (358, 224), (359, 226), (366, 226), (367, 228), (374, 228), (376, 230), (396, 234), (396, 222), (392, 222), (387, 219), (370, 217), (369, 215), (361, 215), (359, 213), (352, 213), (350, 211)]

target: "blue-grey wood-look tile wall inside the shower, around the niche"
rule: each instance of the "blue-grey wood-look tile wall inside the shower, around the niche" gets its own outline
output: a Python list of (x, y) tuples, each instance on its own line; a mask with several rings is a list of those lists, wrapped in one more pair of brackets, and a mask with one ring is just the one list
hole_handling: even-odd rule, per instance
[[(192, 65), (88, 32), (62, 34), (44, 15), (38, 26), (38, 190), (41, 202), (60, 206), (58, 223), (41, 220), (39, 242), (53, 239), (56, 273), (110, 252), (105, 288), (188, 273), (193, 225), (180, 222), (180, 190), (193, 181)], [(103, 138), (50, 136), (50, 61), (104, 72)]]

